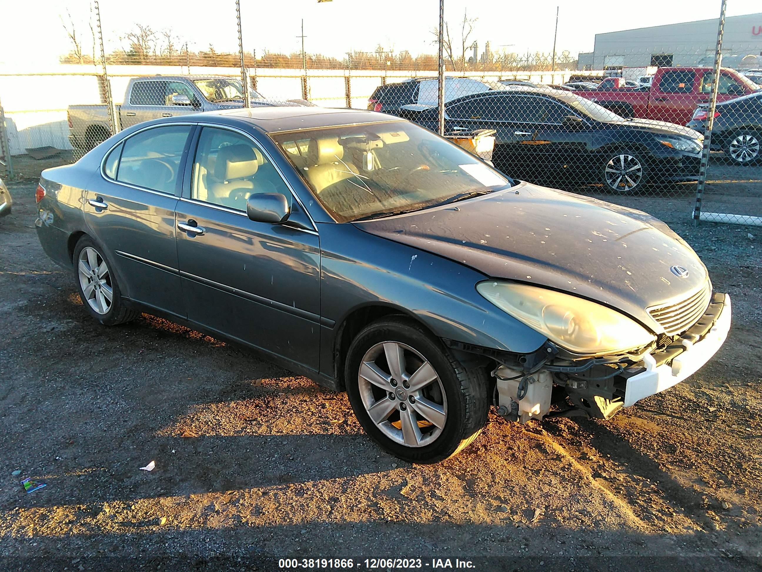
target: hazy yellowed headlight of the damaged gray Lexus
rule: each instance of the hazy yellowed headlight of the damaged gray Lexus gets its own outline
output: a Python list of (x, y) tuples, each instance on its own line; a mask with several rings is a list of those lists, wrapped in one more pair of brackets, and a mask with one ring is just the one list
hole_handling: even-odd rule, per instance
[(577, 354), (626, 352), (656, 339), (623, 314), (584, 298), (494, 280), (479, 282), (476, 290), (504, 312)]

